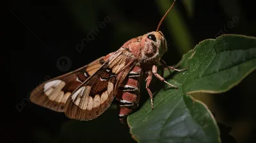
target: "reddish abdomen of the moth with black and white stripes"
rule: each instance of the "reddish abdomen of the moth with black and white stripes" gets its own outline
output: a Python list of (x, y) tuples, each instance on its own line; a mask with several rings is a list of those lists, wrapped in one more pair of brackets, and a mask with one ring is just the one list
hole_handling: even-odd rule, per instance
[(116, 95), (118, 116), (122, 123), (133, 109), (138, 107), (140, 99), (140, 82), (143, 72), (140, 67), (135, 66), (127, 75), (127, 78), (118, 87)]

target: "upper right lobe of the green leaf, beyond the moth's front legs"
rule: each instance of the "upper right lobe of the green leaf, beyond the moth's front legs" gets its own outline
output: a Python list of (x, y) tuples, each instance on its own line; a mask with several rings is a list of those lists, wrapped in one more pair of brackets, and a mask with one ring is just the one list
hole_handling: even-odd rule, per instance
[(236, 86), (256, 67), (256, 38), (229, 34), (205, 40), (182, 57), (180, 66), (191, 66), (174, 80), (184, 93), (221, 93)]

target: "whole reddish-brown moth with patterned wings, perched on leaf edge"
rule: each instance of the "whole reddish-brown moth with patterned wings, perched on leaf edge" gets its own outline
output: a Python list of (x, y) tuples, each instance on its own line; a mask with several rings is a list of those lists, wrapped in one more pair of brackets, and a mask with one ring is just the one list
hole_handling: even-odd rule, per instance
[(178, 70), (166, 66), (161, 60), (167, 45), (159, 27), (173, 4), (159, 22), (156, 31), (132, 38), (116, 52), (44, 82), (31, 93), (31, 102), (57, 112), (65, 112), (69, 118), (88, 121), (100, 116), (115, 99), (119, 119), (125, 123), (126, 117), (138, 107), (140, 84), (144, 77), (154, 109), (153, 94), (149, 89), (153, 75), (168, 86), (178, 88), (157, 73), (157, 64), (161, 63), (165, 68), (178, 72), (188, 69)]

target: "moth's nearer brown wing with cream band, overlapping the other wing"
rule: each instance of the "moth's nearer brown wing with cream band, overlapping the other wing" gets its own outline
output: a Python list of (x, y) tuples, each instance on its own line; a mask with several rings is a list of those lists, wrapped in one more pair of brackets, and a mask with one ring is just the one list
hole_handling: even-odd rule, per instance
[(111, 105), (118, 86), (135, 64), (135, 57), (126, 50), (117, 51), (109, 57), (108, 61), (68, 98), (65, 105), (66, 116), (86, 121), (102, 114)]

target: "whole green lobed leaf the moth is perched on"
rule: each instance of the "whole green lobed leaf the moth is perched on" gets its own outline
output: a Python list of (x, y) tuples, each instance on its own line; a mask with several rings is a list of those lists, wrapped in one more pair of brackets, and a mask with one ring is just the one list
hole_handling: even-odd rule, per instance
[(187, 94), (221, 93), (241, 82), (256, 68), (256, 38), (230, 34), (204, 40), (178, 65), (190, 66), (168, 80), (179, 89), (162, 89), (154, 97), (154, 110), (148, 100), (128, 117), (132, 137), (138, 142), (220, 142), (211, 112)]

